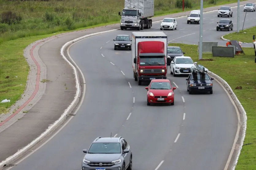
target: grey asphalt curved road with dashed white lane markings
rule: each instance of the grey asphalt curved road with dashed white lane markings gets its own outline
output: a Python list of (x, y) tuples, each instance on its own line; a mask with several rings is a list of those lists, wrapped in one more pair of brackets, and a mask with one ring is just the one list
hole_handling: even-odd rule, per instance
[[(255, 20), (255, 13), (247, 14), (249, 21)], [(219, 19), (216, 12), (204, 14), (203, 41), (225, 45), (218, 38), (227, 32), (215, 29)], [(249, 21), (245, 27), (253, 26)], [(143, 31), (158, 28), (159, 23)], [(82, 106), (56, 136), (13, 170), (80, 170), (82, 149), (111, 132), (130, 144), (134, 170), (154, 170), (160, 163), (159, 170), (224, 169), (237, 130), (235, 108), (224, 89), (214, 81), (212, 95), (189, 95), (185, 77), (174, 78), (168, 69), (168, 79), (177, 87), (174, 106), (147, 106), (146, 85), (133, 79), (131, 51), (113, 50), (116, 35), (131, 31), (93, 36), (71, 46), (70, 56), (86, 78)], [(199, 25), (186, 24), (186, 18), (178, 19), (178, 30), (164, 32), (172, 42), (197, 44), (199, 39)]]

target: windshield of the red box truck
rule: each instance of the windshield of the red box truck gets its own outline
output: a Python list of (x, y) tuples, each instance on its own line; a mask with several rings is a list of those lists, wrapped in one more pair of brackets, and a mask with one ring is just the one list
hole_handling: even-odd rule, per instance
[(159, 65), (164, 66), (164, 58), (163, 56), (140, 56), (139, 57), (139, 65), (149, 66), (149, 65)]

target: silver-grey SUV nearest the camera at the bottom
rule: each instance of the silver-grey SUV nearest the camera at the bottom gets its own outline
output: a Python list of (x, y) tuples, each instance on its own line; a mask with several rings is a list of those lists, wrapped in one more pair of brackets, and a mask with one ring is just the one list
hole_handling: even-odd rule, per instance
[(82, 160), (82, 170), (132, 170), (132, 151), (122, 137), (97, 137)]

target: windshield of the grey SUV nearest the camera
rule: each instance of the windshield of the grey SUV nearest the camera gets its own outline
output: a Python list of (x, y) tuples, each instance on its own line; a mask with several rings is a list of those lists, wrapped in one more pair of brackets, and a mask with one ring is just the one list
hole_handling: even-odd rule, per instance
[(88, 154), (120, 154), (120, 143), (93, 143)]

